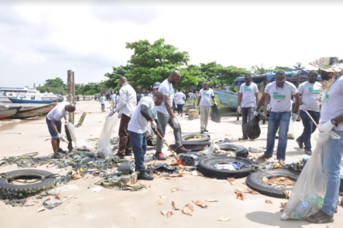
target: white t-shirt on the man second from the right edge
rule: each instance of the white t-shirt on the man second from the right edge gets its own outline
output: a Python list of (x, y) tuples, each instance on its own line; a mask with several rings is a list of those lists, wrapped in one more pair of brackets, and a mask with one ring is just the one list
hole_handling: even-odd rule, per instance
[(322, 84), (315, 82), (303, 82), (298, 87), (298, 93), (301, 95), (301, 101), (306, 105), (307, 110), (319, 112), (319, 102), (317, 99), (320, 97), (320, 89)]

